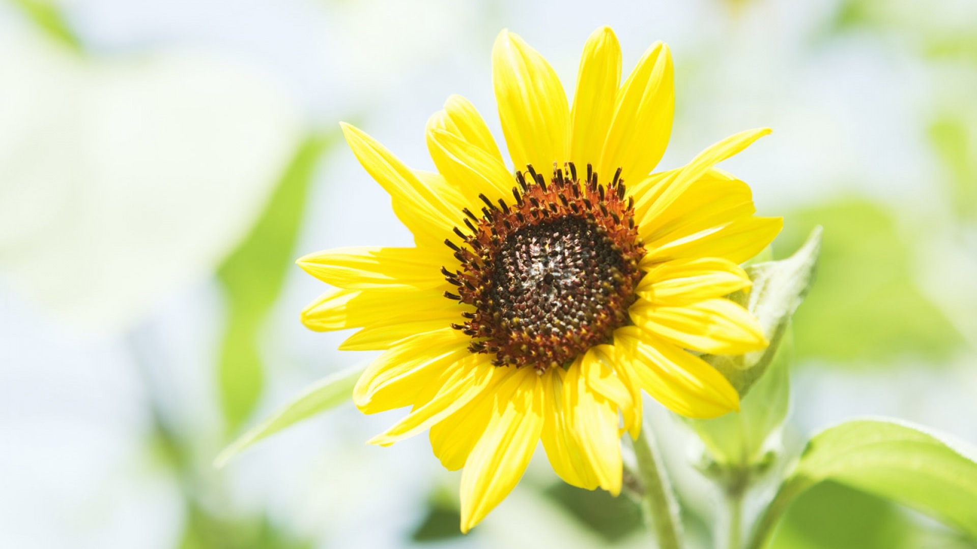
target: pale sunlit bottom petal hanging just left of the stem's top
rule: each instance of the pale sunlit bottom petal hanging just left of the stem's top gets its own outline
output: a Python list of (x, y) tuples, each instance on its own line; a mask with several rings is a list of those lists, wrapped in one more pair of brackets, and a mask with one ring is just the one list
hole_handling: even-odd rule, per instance
[(584, 355), (578, 367), (577, 401), (573, 406), (574, 436), (600, 486), (617, 495), (622, 471), (617, 405), (596, 390), (597, 386), (608, 385), (613, 378), (609, 378), (610, 372), (604, 369), (603, 362), (593, 350)]

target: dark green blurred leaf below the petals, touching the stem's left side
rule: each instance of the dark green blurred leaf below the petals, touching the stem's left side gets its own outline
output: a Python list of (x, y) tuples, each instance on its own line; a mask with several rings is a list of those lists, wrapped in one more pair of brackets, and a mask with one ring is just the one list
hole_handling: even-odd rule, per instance
[(551, 485), (543, 493), (609, 543), (642, 527), (641, 508), (627, 497), (615, 497), (602, 489), (587, 490), (565, 483)]

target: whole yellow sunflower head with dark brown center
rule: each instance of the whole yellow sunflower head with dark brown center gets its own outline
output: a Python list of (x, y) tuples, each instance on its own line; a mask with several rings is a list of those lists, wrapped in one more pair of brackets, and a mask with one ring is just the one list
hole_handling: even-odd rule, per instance
[(428, 122), (436, 172), (342, 125), (415, 246), (301, 258), (334, 286), (302, 320), (360, 328), (340, 349), (384, 351), (354, 401), (411, 409), (369, 442), (430, 430), (442, 464), (463, 468), (463, 531), (516, 486), (540, 440), (564, 481), (617, 494), (620, 437), (640, 433), (642, 391), (689, 417), (739, 409), (699, 354), (767, 345), (724, 296), (749, 286), (739, 264), (782, 219), (755, 217), (746, 184), (714, 166), (770, 130), (652, 173), (671, 133), (671, 55), (654, 44), (622, 84), (620, 68), (614, 31), (597, 29), (570, 106), (550, 64), (503, 30), (492, 80), (515, 172), (461, 97)]

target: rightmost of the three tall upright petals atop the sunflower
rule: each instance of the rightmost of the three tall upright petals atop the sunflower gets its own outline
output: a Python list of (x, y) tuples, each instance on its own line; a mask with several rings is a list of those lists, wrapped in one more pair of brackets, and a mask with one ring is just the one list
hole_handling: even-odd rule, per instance
[(648, 175), (668, 146), (675, 111), (675, 84), (668, 46), (652, 45), (617, 91), (614, 118), (599, 171), (609, 180), (617, 168), (626, 180)]

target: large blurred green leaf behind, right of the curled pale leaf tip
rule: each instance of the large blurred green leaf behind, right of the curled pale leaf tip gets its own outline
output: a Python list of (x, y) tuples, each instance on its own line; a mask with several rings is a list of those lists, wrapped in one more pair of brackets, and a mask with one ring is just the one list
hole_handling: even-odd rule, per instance
[(793, 319), (798, 359), (850, 365), (948, 359), (960, 334), (917, 288), (891, 214), (864, 200), (794, 212), (777, 249), (824, 225), (818, 284)]

